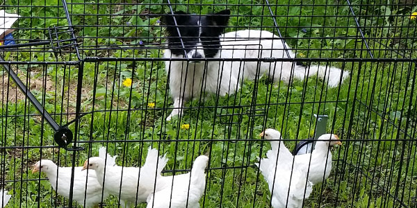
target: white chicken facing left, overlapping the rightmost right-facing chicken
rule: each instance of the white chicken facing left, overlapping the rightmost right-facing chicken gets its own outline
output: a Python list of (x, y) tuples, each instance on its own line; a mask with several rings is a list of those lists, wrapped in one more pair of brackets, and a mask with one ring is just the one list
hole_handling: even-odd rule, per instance
[(313, 184), (307, 180), (304, 169), (293, 166), (293, 155), (284, 146), (281, 133), (277, 130), (267, 129), (261, 133), (265, 139), (277, 139), (270, 141), (271, 150), (266, 153), (267, 158), (259, 160), (259, 167), (272, 194), (271, 204), (274, 208), (302, 207), (304, 198), (309, 198)]

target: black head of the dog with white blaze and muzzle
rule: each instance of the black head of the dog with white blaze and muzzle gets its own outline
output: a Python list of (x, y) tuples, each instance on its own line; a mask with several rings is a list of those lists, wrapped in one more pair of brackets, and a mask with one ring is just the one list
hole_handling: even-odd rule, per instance
[(229, 21), (230, 10), (213, 15), (190, 15), (186, 12), (167, 14), (165, 24), (168, 46), (174, 55), (184, 55), (185, 47), (190, 62), (196, 58), (213, 58), (220, 49), (220, 38)]

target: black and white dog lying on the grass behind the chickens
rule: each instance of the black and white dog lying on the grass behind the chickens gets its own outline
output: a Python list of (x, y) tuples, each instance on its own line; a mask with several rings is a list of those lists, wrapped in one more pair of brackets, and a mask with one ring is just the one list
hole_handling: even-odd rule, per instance
[[(183, 58), (165, 61), (174, 99), (174, 110), (167, 121), (172, 116), (181, 116), (184, 101), (197, 98), (201, 92), (220, 96), (234, 94), (244, 79), (254, 80), (266, 75), (270, 80), (290, 83), (291, 76), (303, 80), (317, 74), (329, 87), (336, 87), (349, 76), (347, 71), (329, 66), (245, 61), (245, 58), (295, 58), (295, 53), (281, 38), (268, 31), (244, 30), (222, 34), (229, 15), (230, 10), (213, 15), (175, 12), (165, 18), (168, 37), (164, 58)], [(241, 58), (243, 61), (204, 61), (204, 58)]]

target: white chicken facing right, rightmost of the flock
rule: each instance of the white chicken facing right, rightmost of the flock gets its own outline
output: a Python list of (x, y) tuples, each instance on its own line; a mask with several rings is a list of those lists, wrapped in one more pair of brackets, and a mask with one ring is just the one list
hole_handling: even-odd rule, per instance
[(309, 172), (309, 181), (313, 184), (318, 184), (326, 180), (332, 171), (332, 152), (329, 150), (329, 145), (342, 145), (342, 143), (337, 135), (321, 135), (318, 137), (312, 153), (295, 156), (295, 164), (303, 170), (306, 170), (306, 172)]

